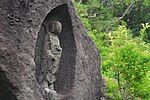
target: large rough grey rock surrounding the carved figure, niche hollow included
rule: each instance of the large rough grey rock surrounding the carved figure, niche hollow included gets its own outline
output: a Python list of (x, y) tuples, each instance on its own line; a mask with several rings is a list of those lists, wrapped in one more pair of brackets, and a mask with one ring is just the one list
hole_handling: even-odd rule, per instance
[[(42, 25), (60, 21), (56, 97), (38, 83)], [(0, 0), (0, 100), (99, 100), (98, 52), (69, 0)]]

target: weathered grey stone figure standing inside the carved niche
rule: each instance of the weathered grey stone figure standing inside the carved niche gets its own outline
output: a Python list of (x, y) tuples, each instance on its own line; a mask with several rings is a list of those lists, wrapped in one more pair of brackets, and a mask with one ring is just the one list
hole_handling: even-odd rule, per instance
[(43, 83), (44, 89), (47, 92), (56, 93), (54, 90), (54, 82), (56, 81), (56, 74), (59, 69), (62, 53), (62, 48), (60, 47), (57, 35), (61, 33), (61, 30), (62, 24), (59, 21), (51, 21), (50, 24), (46, 26), (46, 34), (49, 38), (46, 54), (48, 58), (51, 58), (51, 61), (48, 61), (48, 69)]

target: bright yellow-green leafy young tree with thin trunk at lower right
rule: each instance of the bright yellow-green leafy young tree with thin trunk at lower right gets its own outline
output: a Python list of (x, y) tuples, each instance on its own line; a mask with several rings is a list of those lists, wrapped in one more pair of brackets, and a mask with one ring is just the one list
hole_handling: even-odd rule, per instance
[(108, 37), (111, 45), (108, 47), (107, 59), (103, 61), (103, 67), (107, 70), (104, 75), (117, 80), (118, 91), (123, 100), (149, 98), (150, 92), (145, 90), (150, 84), (144, 82), (146, 74), (150, 71), (149, 44), (140, 37), (132, 38), (123, 26), (109, 33)]

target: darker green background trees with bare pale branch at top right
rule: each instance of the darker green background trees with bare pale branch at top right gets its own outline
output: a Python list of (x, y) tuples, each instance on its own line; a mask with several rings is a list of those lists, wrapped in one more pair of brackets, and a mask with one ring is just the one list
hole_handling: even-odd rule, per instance
[[(126, 22), (127, 28), (137, 36), (142, 28), (141, 24), (150, 22), (150, 0), (107, 0), (106, 3), (100, 1), (106, 0), (88, 0), (86, 4), (81, 4), (87, 6), (82, 9), (86, 10), (86, 18), (91, 28), (99, 32), (114, 30), (119, 24)], [(150, 28), (147, 31), (150, 32)], [(149, 34), (148, 38), (150, 39)]]

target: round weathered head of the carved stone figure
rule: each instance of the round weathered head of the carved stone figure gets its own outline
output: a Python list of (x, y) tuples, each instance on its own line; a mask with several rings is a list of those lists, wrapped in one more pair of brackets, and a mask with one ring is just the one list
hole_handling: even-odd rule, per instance
[(49, 28), (52, 33), (59, 34), (62, 31), (62, 24), (59, 21), (51, 21)]

